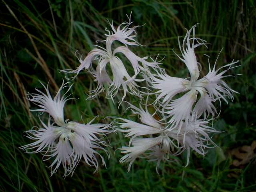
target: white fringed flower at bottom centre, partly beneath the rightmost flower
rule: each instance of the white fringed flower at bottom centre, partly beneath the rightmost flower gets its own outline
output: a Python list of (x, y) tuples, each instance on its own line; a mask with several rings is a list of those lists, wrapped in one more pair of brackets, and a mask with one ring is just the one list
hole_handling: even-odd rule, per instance
[[(147, 102), (146, 102), (147, 103)], [(188, 123), (178, 123), (172, 129), (156, 120), (149, 112), (146, 105), (145, 110), (140, 106), (130, 104), (133, 114), (140, 116), (141, 123), (132, 120), (117, 118), (124, 122), (118, 122), (116, 131), (126, 133), (130, 137), (128, 146), (120, 148), (125, 155), (120, 159), (120, 163), (129, 162), (128, 171), (136, 158), (147, 158), (149, 161), (157, 161), (156, 171), (162, 160), (170, 161), (173, 156), (177, 156), (187, 150), (187, 164), (190, 158), (190, 149), (204, 155), (205, 148), (210, 148), (209, 143), (216, 146), (210, 137), (209, 132), (218, 132), (208, 126), (208, 121), (196, 120), (189, 116)], [(155, 114), (156, 115), (156, 114)]]

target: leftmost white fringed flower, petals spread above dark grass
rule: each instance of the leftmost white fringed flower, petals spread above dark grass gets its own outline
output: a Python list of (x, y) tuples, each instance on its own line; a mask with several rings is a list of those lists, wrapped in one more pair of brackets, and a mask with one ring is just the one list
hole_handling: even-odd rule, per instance
[[(64, 176), (72, 175), (82, 158), (88, 165), (94, 166), (98, 170), (96, 156), (100, 156), (103, 164), (105, 166), (106, 164), (104, 158), (96, 149), (107, 151), (100, 146), (100, 144), (106, 145), (97, 135), (107, 134), (109, 132), (107, 130), (108, 125), (92, 124), (95, 118), (87, 124), (65, 121), (63, 115), (64, 104), (70, 99), (65, 98), (65, 94), (62, 97), (60, 96), (61, 90), (65, 87), (68, 87), (68, 90), (70, 90), (71, 86), (62, 84), (54, 99), (52, 99), (48, 87), (46, 88), (45, 86), (47, 94), (39, 90), (40, 94), (30, 94), (32, 98), (28, 98), (28, 100), (40, 107), (40, 109), (32, 111), (47, 112), (50, 117), (47, 125), (40, 120), (42, 123), (41, 128), (26, 131), (27, 137), (35, 140), (35, 142), (22, 146), (21, 149), (26, 150), (28, 153), (42, 152), (44, 156), (48, 157), (46, 160), (55, 158), (50, 165), (52, 168), (51, 174), (54, 174), (60, 164), (62, 164)], [(51, 117), (53, 118), (53, 123), (51, 123)], [(34, 151), (30, 152), (30, 150)]]

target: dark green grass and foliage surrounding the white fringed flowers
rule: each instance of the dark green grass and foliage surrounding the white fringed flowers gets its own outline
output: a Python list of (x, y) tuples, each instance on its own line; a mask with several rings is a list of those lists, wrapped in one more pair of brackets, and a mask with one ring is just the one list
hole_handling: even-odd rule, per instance
[[(49, 161), (40, 154), (26, 154), (20, 146), (31, 142), (22, 132), (38, 125), (35, 106), (24, 97), (34, 88), (42, 88), (39, 81), (50, 80), (52, 91), (61, 85), (65, 74), (58, 69), (75, 69), (79, 62), (75, 51), (87, 54), (104, 40), (108, 20), (116, 25), (127, 20), (132, 12), (137, 28), (137, 40), (147, 47), (136, 47), (140, 56), (164, 58), (163, 66), (173, 76), (187, 77), (184, 64), (175, 56), (178, 36), (194, 24), (196, 36), (210, 44), (208, 49), (196, 49), (203, 72), (208, 71), (208, 58), (214, 64), (220, 50), (218, 67), (240, 60), (240, 67), (227, 78), (231, 88), (240, 92), (234, 101), (223, 103), (222, 112), (214, 126), (225, 131), (213, 135), (220, 148), (208, 150), (203, 158), (192, 152), (188, 167), (184, 158), (160, 165), (156, 174), (155, 162), (136, 160), (131, 172), (128, 164), (119, 164), (120, 148), (126, 140), (116, 134), (108, 138), (112, 144), (107, 169), (101, 167), (92, 174), (80, 162), (72, 177), (64, 179), (59, 169), (50, 177)], [(0, 191), (26, 192), (80, 192), (80, 191), (255, 191), (256, 188), (256, 5), (254, 0), (1, 0), (0, 1)], [(108, 19), (108, 20), (107, 20)], [(107, 115), (128, 116), (126, 106), (119, 109), (104, 94), (94, 100), (85, 100), (92, 76), (80, 74), (72, 88), (74, 97), (68, 102), (65, 116), (84, 120), (99, 115), (100, 122)], [(132, 98), (130, 98), (132, 99)], [(105, 154), (103, 154), (105, 155)]]

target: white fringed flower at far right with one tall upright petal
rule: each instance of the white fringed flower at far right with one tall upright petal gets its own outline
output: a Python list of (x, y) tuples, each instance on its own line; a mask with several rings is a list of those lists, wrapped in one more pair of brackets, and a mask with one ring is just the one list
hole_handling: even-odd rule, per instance
[[(215, 71), (215, 62), (213, 69), (210, 69), (206, 76), (198, 79), (198, 65), (200, 64), (196, 60), (194, 48), (201, 45), (206, 46), (206, 43), (204, 40), (195, 37), (195, 28), (196, 25), (187, 31), (182, 45), (180, 40), (178, 41), (182, 57), (178, 56), (178, 54), (177, 56), (186, 64), (190, 72), (190, 78), (171, 77), (167, 74), (158, 74), (158, 76), (153, 77), (152, 88), (157, 89), (155, 105), (159, 105), (162, 108), (160, 112), (162, 112), (164, 119), (170, 123), (170, 127), (177, 126), (182, 121), (187, 124), (190, 115), (194, 115), (196, 118), (204, 115), (203, 118), (207, 119), (211, 114), (212, 118), (214, 118), (217, 110), (212, 102), (220, 100), (220, 98), (227, 102), (225, 96), (233, 98), (232, 95), (235, 92), (222, 80), (227, 76), (222, 75), (230, 68), (233, 68), (231, 66), (238, 61), (221, 67), (220, 69), (229, 68), (219, 74), (217, 73), (220, 69)], [(191, 33), (193, 33), (193, 36), (190, 38)], [(190, 41), (192, 41), (192, 44)], [(183, 92), (186, 92), (186, 94), (180, 98), (173, 99), (174, 96)]]

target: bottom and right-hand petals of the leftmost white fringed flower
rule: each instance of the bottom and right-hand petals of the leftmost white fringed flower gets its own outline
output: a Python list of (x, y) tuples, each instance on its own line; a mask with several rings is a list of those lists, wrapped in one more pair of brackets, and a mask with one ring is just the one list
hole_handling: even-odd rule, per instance
[[(92, 120), (93, 121), (93, 120)], [(91, 122), (92, 122), (91, 121)], [(101, 138), (98, 138), (97, 135), (104, 135), (107, 134), (109, 131), (107, 130), (108, 125), (105, 124), (79, 124), (77, 122), (68, 122), (66, 128), (62, 131), (62, 134), (60, 136), (58, 144), (60, 145), (59, 150), (56, 150), (55, 155), (59, 155), (60, 157), (58, 161), (55, 161), (54, 163), (59, 164), (59, 161), (62, 161), (62, 163), (65, 163), (65, 169), (66, 166), (68, 166), (67, 170), (70, 170), (70, 173), (74, 173), (74, 169), (76, 168), (78, 162), (81, 158), (84, 158), (85, 162), (95, 167), (95, 171), (98, 170), (98, 160), (96, 157), (96, 154), (99, 155), (99, 153), (96, 151), (96, 149), (104, 150), (107, 152), (100, 144), (104, 144), (103, 141), (101, 141)], [(62, 142), (68, 141), (66, 145), (66, 148), (71, 148), (72, 153), (70, 154), (71, 150), (65, 150), (64, 148), (61, 148), (64, 146)], [(68, 159), (67, 156), (64, 156), (63, 154), (66, 154), (70, 156), (70, 159)], [(108, 154), (108, 153), (107, 153)], [(104, 165), (105, 161), (104, 158), (99, 155), (102, 159), (102, 162)], [(53, 163), (53, 164), (54, 164)], [(65, 171), (65, 175), (70, 174)]]

